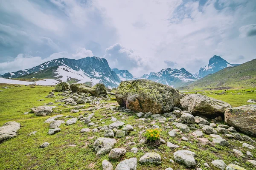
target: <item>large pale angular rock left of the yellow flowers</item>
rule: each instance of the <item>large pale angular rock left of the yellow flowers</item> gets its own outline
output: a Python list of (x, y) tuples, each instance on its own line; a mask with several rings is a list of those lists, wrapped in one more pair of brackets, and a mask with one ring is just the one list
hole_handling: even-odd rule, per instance
[(96, 139), (93, 144), (93, 149), (97, 152), (96, 156), (110, 152), (115, 143), (116, 139), (102, 137)]

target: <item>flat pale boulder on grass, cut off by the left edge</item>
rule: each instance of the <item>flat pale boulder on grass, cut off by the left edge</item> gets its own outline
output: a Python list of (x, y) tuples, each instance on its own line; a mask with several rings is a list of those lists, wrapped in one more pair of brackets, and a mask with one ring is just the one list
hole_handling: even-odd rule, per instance
[(20, 129), (20, 123), (7, 122), (0, 127), (0, 142), (17, 136), (16, 132)]

